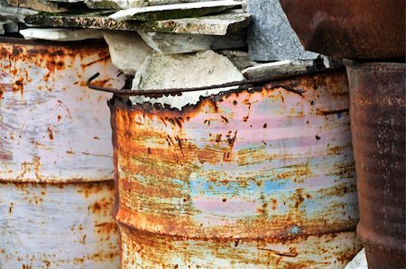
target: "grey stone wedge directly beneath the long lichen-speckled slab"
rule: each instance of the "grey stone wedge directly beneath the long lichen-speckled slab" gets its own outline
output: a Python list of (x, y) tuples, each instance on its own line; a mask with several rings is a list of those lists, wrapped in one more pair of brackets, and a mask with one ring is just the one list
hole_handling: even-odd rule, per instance
[(199, 35), (186, 33), (138, 32), (143, 41), (162, 54), (242, 48), (244, 35)]

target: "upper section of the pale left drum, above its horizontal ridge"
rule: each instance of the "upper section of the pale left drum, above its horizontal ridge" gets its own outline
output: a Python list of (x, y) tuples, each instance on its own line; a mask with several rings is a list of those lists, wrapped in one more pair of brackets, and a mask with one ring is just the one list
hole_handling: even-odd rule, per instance
[(124, 85), (106, 45), (15, 42), (0, 39), (0, 181), (111, 180), (111, 95), (86, 87)]

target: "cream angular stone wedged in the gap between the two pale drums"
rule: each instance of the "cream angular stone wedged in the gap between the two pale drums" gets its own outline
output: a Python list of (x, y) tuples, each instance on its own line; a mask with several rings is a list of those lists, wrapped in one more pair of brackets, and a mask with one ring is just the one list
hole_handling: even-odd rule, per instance
[(103, 31), (102, 33), (108, 44), (113, 64), (125, 74), (134, 76), (152, 49), (143, 42), (137, 32)]

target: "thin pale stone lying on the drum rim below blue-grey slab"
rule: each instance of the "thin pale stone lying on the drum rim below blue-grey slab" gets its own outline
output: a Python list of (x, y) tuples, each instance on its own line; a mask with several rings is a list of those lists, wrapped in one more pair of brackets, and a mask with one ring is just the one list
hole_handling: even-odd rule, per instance
[(302, 73), (313, 70), (313, 60), (281, 60), (258, 64), (243, 70), (247, 79), (272, 78), (281, 75)]

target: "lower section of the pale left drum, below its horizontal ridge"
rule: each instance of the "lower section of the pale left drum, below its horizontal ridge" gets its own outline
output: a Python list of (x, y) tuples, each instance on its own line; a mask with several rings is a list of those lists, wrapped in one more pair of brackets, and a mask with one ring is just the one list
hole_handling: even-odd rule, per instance
[(0, 268), (118, 268), (114, 183), (0, 184)]

